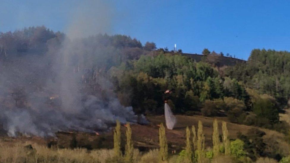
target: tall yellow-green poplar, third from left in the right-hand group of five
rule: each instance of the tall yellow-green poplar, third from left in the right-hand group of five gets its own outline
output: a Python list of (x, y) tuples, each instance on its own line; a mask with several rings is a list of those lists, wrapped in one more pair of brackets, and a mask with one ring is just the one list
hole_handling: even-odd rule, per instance
[(198, 129), (197, 129), (197, 162), (202, 163), (204, 160), (204, 134), (202, 129), (202, 122), (198, 121)]

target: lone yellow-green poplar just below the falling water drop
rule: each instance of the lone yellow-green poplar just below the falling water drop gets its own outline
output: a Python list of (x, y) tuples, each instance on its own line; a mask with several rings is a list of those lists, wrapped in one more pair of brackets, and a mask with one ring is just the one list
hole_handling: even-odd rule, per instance
[(163, 123), (161, 123), (159, 127), (159, 146), (159, 157), (161, 161), (166, 161), (168, 158), (168, 145), (165, 135), (165, 127), (163, 126)]

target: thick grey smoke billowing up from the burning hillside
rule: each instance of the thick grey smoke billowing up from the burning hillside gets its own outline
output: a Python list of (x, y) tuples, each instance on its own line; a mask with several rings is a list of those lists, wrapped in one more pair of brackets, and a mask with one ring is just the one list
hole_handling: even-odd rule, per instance
[[(117, 119), (121, 123), (137, 122), (133, 108), (120, 104), (112, 84), (106, 77), (97, 75), (101, 68), (87, 64), (84, 55), (92, 51), (106, 54), (105, 49), (87, 49), (80, 37), (106, 31), (110, 24), (109, 11), (108, 5), (100, 1), (86, 1), (77, 8), (61, 48), (49, 48), (45, 55), (12, 57), (1, 65), (0, 124), (9, 136), (104, 131)], [(84, 84), (86, 70), (92, 71), (89, 76), (94, 79), (89, 82), (97, 85), (99, 91), (86, 91), (90, 90), (89, 84)], [(14, 89), (22, 90), (25, 107), (15, 106), (11, 93)], [(144, 117), (141, 119), (146, 122)]]

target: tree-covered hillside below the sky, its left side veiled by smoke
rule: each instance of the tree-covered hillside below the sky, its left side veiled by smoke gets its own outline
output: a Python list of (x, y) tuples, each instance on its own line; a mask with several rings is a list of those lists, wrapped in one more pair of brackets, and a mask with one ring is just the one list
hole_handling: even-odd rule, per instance
[[(57, 69), (52, 62), (64, 44), (70, 45), (71, 71), (84, 70), (82, 82), (90, 89), (82, 91), (96, 94), (96, 78), (103, 76), (121, 104), (132, 106), (135, 113), (163, 114), (166, 99), (176, 114), (227, 116), (234, 123), (289, 129), (278, 115), (290, 104), (286, 51), (255, 49), (245, 62), (204, 49), (195, 59), (197, 55), (157, 49), (153, 42), (142, 45), (124, 35), (70, 40), (44, 26), (30, 27), (0, 34), (1, 82), (15, 92), (25, 92), (25, 86), (43, 90), (48, 80), (54, 82)], [(5, 71), (15, 84), (4, 80)], [(164, 94), (167, 89), (171, 94)]]

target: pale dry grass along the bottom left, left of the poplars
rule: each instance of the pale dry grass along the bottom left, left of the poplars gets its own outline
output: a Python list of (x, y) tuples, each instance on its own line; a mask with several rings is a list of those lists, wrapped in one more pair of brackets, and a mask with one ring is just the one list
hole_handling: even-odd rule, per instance
[[(27, 148), (31, 144), (33, 149)], [(108, 149), (52, 149), (36, 143), (0, 142), (0, 162), (98, 162), (105, 163), (114, 157), (114, 151)], [(140, 159), (138, 150), (134, 151), (134, 161)]]

